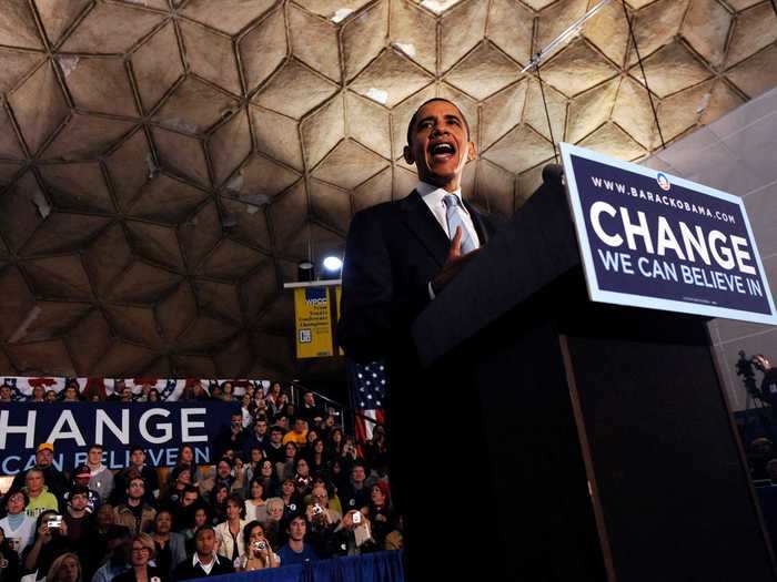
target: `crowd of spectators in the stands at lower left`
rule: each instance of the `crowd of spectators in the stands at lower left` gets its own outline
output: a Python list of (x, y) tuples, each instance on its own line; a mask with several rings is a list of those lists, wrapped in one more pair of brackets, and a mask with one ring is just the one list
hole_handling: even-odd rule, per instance
[(68, 476), (56, 443), (39, 443), (0, 500), (0, 580), (165, 582), (402, 547), (382, 427), (357, 446), (313, 392), (294, 407), (280, 384), (240, 399), (230, 382), (219, 394), (198, 385), (186, 398), (241, 405), (212, 443), (213, 466), (184, 445), (159, 470), (135, 446), (114, 472), (94, 443)]

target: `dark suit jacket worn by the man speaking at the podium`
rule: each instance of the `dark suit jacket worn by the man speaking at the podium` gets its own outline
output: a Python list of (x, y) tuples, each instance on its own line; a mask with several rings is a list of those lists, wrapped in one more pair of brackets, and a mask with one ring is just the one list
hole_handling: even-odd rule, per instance
[[(465, 203), (481, 245), (495, 232), (490, 216)], [(413, 191), (356, 213), (349, 229), (337, 341), (349, 357), (370, 361), (403, 351), (410, 326), (428, 304), (428, 283), (451, 241)]]

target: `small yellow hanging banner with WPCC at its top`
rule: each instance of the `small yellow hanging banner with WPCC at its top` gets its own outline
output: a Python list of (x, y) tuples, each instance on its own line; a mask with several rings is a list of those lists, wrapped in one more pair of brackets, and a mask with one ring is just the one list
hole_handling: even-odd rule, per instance
[(296, 357), (334, 356), (340, 285), (305, 285), (294, 288)]

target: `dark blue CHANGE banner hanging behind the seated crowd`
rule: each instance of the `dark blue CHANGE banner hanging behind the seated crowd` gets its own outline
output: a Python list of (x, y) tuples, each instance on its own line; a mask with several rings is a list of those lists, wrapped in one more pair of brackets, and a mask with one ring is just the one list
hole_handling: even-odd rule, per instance
[(216, 437), (230, 429), (240, 405), (219, 401), (188, 404), (57, 402), (0, 405), (0, 474), (16, 474), (36, 463), (41, 442), (54, 446), (54, 466), (70, 471), (84, 463), (94, 442), (104, 449), (109, 469), (130, 464), (131, 445), (145, 450), (152, 467), (175, 464), (181, 445), (194, 449), (194, 461), (213, 461)]

